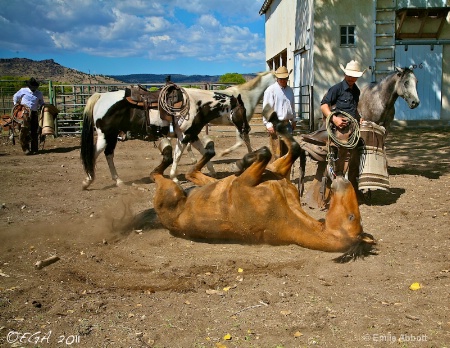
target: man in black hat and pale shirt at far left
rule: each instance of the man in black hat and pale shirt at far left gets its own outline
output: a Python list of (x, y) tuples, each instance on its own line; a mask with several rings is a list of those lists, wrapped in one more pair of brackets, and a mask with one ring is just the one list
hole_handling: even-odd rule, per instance
[[(32, 77), (27, 81), (27, 87), (19, 89), (13, 96), (14, 105), (22, 104), (30, 108), (30, 117), (24, 117), (19, 140), (25, 155), (35, 155), (39, 145), (39, 116), (38, 111), (45, 104), (42, 92), (38, 90), (39, 82)], [(31, 142), (31, 149), (30, 149)]]

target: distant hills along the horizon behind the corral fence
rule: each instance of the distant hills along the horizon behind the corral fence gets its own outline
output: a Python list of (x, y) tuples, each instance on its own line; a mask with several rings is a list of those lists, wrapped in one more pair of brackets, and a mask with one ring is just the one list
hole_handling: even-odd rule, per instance
[[(130, 74), (130, 75), (89, 75), (81, 71), (66, 68), (53, 59), (35, 61), (27, 58), (0, 58), (0, 79), (8, 77), (34, 77), (38, 81), (51, 80), (73, 84), (108, 84), (108, 83), (164, 83), (169, 74)], [(242, 74), (248, 81), (256, 74)], [(220, 75), (181, 75), (171, 74), (175, 83), (216, 83)]]

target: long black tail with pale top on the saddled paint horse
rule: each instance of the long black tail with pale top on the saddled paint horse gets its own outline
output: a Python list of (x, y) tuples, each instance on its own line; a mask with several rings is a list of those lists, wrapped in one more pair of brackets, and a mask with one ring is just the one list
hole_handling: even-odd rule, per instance
[(95, 177), (94, 105), (101, 96), (101, 93), (94, 93), (90, 96), (83, 111), (80, 157), (84, 171), (91, 179)]

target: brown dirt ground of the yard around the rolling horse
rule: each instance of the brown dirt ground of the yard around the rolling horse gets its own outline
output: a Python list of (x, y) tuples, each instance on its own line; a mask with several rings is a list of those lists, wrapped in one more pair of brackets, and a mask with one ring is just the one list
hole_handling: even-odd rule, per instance
[[(215, 140), (220, 150), (234, 137)], [(244, 151), (214, 159), (219, 175)], [(102, 155), (82, 191), (79, 153), (78, 138), (28, 157), (2, 139), (1, 347), (450, 346), (449, 128), (391, 132), (391, 192), (360, 206), (379, 254), (347, 264), (298, 246), (175, 238), (152, 210), (153, 143), (118, 144), (121, 188)], [(308, 162), (306, 189), (312, 173)]]

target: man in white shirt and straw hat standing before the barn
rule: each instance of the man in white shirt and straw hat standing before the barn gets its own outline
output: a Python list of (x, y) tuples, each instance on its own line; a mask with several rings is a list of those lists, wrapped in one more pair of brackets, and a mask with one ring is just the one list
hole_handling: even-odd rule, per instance
[[(292, 71), (292, 70), (291, 70)], [(263, 110), (269, 105), (277, 113), (278, 120), (285, 123), (289, 131), (295, 129), (294, 91), (288, 86), (289, 72), (281, 66), (275, 71), (277, 81), (267, 87), (264, 92)], [(287, 147), (280, 141), (275, 126), (263, 116), (272, 148), (272, 159), (275, 160), (287, 153)]]

